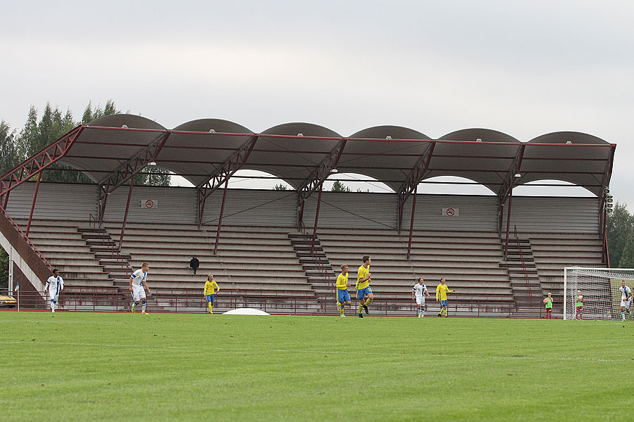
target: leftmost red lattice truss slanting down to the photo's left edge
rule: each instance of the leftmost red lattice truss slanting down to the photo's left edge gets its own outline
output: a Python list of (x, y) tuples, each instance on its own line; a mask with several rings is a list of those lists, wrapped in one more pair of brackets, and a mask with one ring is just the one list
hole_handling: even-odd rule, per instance
[(0, 198), (4, 197), (4, 205), (6, 209), (8, 203), (8, 194), (14, 188), (18, 187), (24, 181), (37, 176), (47, 167), (60, 160), (73, 146), (75, 140), (84, 130), (84, 126), (77, 126), (68, 134), (61, 136), (49, 146), (44, 147), (30, 158), (13, 167), (0, 178)]

